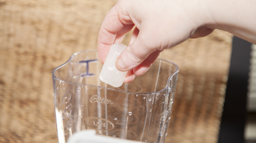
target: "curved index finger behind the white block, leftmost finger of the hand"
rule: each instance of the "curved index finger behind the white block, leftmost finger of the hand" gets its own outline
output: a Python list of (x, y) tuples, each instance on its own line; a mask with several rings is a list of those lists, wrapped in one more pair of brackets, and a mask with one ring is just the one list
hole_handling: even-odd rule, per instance
[(101, 63), (104, 63), (109, 49), (114, 42), (121, 43), (124, 35), (130, 31), (134, 24), (127, 16), (125, 8), (116, 4), (103, 20), (98, 34), (98, 56)]

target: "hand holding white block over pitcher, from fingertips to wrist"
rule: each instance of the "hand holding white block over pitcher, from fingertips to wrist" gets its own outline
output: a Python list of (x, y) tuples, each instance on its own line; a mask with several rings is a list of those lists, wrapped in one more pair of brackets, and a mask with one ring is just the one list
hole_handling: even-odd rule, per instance
[[(191, 4), (190, 2), (189, 4)], [(116, 67), (128, 71), (125, 83), (135, 75), (144, 74), (155, 62), (160, 52), (188, 38), (198, 38), (213, 30), (200, 27), (203, 21), (195, 19), (198, 11), (172, 0), (120, 0), (108, 12), (99, 31), (98, 54), (104, 60), (113, 43), (121, 43), (124, 35), (134, 25), (129, 46), (117, 58)], [(195, 7), (195, 6), (194, 6)], [(191, 8), (192, 9), (192, 8)], [(200, 27), (200, 28), (199, 28)]]

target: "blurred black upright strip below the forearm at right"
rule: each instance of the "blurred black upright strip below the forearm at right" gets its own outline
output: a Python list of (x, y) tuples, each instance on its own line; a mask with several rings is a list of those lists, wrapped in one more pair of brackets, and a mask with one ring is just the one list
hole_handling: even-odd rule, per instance
[(243, 143), (251, 43), (233, 38), (229, 77), (218, 143)]

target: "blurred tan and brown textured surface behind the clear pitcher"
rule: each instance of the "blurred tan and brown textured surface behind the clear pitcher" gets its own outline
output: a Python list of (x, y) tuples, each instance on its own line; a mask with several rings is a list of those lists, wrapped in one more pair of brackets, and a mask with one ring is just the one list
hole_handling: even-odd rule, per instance
[[(0, 0), (0, 142), (57, 142), (51, 71), (75, 52), (96, 49), (116, 2)], [(217, 142), (231, 38), (216, 30), (162, 52), (180, 67), (166, 143)]]

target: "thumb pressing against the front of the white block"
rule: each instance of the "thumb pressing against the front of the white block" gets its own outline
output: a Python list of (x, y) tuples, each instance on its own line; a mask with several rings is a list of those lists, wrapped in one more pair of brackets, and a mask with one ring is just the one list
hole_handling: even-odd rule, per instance
[(153, 51), (141, 42), (139, 36), (117, 57), (116, 67), (119, 71), (129, 71), (137, 67)]

